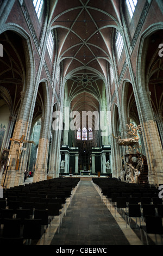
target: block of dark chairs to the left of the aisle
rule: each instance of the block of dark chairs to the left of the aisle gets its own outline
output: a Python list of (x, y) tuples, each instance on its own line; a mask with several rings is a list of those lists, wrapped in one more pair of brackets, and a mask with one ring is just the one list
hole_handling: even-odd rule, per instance
[(31, 244), (32, 239), (40, 239), (57, 217), (58, 232), (62, 223), (66, 200), (79, 179), (52, 179), (16, 186), (4, 190), (0, 199), (0, 243)]

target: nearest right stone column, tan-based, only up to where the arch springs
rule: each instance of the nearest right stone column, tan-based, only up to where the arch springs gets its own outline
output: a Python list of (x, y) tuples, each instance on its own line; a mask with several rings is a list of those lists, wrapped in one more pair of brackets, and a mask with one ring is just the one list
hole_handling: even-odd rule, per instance
[(148, 163), (148, 180), (150, 184), (162, 184), (163, 182), (163, 150), (161, 140), (156, 126), (156, 121), (151, 106), (150, 93), (140, 89), (141, 94), (141, 130), (145, 144), (147, 163)]

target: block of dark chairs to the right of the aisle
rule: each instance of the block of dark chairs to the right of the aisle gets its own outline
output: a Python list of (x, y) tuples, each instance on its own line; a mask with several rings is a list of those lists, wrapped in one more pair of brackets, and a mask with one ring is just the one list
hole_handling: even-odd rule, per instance
[[(126, 227), (135, 228), (136, 222), (136, 228), (140, 229), (142, 243), (144, 243), (143, 234), (147, 245), (149, 245), (149, 234), (155, 235), (156, 244), (158, 242), (156, 235), (159, 235), (162, 243), (163, 204), (162, 199), (159, 198), (158, 187), (149, 184), (127, 184), (117, 179), (94, 178), (92, 180), (98, 187), (102, 200), (106, 200), (106, 205), (109, 202), (110, 209), (111, 206), (115, 208), (115, 217), (119, 210), (120, 216), (126, 221)], [(137, 218), (140, 220), (139, 225)]]

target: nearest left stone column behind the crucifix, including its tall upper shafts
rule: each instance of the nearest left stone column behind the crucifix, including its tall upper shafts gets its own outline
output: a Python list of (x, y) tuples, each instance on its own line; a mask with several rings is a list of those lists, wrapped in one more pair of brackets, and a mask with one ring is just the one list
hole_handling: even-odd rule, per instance
[[(8, 1), (8, 2), (13, 2), (13, 1)], [(46, 33), (45, 44), (43, 45), (39, 68), (36, 70), (37, 71), (36, 77), (35, 77), (35, 67), (34, 67), (34, 54), (33, 54), (33, 49), (30, 46), (31, 42), (29, 44), (27, 44), (27, 42), (24, 42), (24, 54), (26, 55), (26, 60), (27, 60), (26, 64), (27, 64), (27, 70), (28, 70), (26, 74), (27, 75), (26, 80), (23, 81), (26, 84), (26, 91), (21, 92), (21, 104), (18, 111), (17, 121), (15, 124), (15, 129), (14, 129), (12, 138), (21, 139), (21, 136), (23, 135), (25, 140), (29, 140), (30, 127), (33, 119), (33, 112), (35, 107), (37, 90), (40, 82), (42, 65), (43, 65), (44, 56), (46, 52), (47, 36), (48, 36), (48, 33)], [(49, 125), (49, 122), (48, 122), (48, 125)], [(45, 145), (47, 147), (47, 141), (46, 142), (44, 141), (43, 143), (45, 143), (43, 144), (44, 147)], [(19, 145), (20, 144), (18, 142), (14, 142), (14, 141), (11, 142), (10, 153), (9, 153), (9, 155), (11, 155), (10, 167), (8, 169), (8, 174), (5, 181), (5, 185), (7, 187), (14, 187), (14, 186), (23, 184), (24, 170), (26, 169), (26, 165), (27, 165), (28, 144), (26, 143), (26, 145), (24, 145), (24, 148), (26, 147), (27, 150), (23, 151), (23, 154), (21, 155), (21, 159), (20, 159), (20, 168), (16, 170), (16, 162), (17, 162)], [(2, 180), (2, 184), (3, 184), (3, 180)]]

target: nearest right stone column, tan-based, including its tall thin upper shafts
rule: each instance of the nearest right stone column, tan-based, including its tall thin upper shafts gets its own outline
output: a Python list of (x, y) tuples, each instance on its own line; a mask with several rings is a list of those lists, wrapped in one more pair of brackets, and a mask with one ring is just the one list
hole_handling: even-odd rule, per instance
[[(158, 0), (158, 3), (160, 1)], [(139, 52), (137, 57), (137, 84), (133, 67), (130, 60), (129, 50), (126, 44), (126, 36), (121, 29), (124, 49), (126, 52), (128, 69), (131, 77), (131, 83), (133, 84), (133, 91), (137, 106), (137, 112), (139, 114), (140, 125), (142, 130), (143, 143), (145, 146), (147, 163), (148, 163), (148, 180), (151, 184), (161, 184), (163, 182), (163, 150), (160, 142), (160, 136), (158, 128), (153, 114), (150, 92), (146, 92), (145, 84), (145, 68), (142, 60), (142, 44), (139, 46)], [(143, 72), (142, 72), (143, 70)]]

